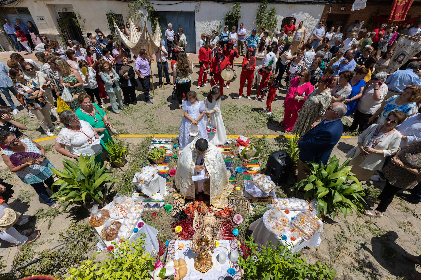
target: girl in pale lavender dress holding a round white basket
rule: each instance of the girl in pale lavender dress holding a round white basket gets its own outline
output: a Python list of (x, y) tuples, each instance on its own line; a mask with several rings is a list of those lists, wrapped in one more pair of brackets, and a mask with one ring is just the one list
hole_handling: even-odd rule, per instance
[[(187, 92), (186, 100), (183, 101), (181, 109), (184, 111), (184, 115), (179, 131), (180, 149), (186, 147), (195, 137), (209, 140), (206, 132), (206, 121), (203, 118), (205, 115), (205, 103), (197, 99), (197, 94), (194, 90)], [(190, 136), (191, 130), (197, 131), (197, 128), (189, 129), (190, 126), (198, 126), (199, 135)]]

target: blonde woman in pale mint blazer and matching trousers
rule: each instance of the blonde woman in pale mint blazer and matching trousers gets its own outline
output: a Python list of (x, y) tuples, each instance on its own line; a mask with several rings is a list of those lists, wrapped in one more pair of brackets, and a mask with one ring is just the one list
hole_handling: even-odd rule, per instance
[[(117, 72), (111, 67), (108, 61), (104, 60), (99, 63), (99, 71), (101, 72), (99, 75), (101, 76), (102, 81), (104, 82), (105, 91), (109, 97), (109, 102), (111, 103), (112, 111), (116, 114), (120, 114), (118, 108), (120, 107), (121, 110), (126, 109), (123, 105), (123, 99), (121, 98), (120, 92), (120, 85), (118, 84), (118, 80), (120, 80), (120, 76), (118, 76)], [(117, 102), (115, 99), (117, 98)]]

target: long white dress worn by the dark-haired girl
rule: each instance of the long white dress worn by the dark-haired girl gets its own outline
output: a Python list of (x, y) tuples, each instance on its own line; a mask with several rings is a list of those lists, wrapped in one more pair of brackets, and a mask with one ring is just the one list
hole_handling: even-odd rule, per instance
[[(209, 134), (209, 142), (214, 145), (224, 145), (228, 140), (226, 138), (226, 131), (224, 126), (224, 120), (222, 120), (221, 115), (221, 98), (218, 100), (212, 99), (212, 102), (209, 102), (208, 99), (205, 99), (205, 112), (210, 112), (215, 110), (216, 112), (209, 115), (210, 123), (212, 127), (215, 127), (217, 130), (213, 134)], [(209, 127), (208, 118), (205, 115), (206, 127)]]

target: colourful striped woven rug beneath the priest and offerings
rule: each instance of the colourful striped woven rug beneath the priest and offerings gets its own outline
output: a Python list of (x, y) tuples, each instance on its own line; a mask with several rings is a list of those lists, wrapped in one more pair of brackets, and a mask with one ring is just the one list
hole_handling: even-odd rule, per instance
[[(149, 149), (152, 149), (154, 147), (163, 147), (166, 150), (166, 154), (165, 154), (165, 159), (163, 161), (163, 163), (158, 164), (158, 174), (160, 176), (162, 176), (163, 178), (165, 178), (166, 181), (166, 186), (169, 186), (169, 181), (168, 178), (171, 177), (171, 175), (168, 174), (168, 162), (170, 162), (170, 159), (174, 156), (173, 155), (173, 144), (170, 140), (152, 140), (151, 141), (151, 145), (149, 146)], [(235, 187), (235, 171), (233, 170), (232, 166), (234, 164), (234, 160), (237, 159), (237, 151), (232, 151), (232, 148), (230, 145), (228, 145), (228, 143), (226, 143), (223, 146), (217, 146), (218, 148), (220, 148), (222, 150), (222, 152), (226, 155), (226, 159), (225, 159), (225, 165), (226, 165), (226, 169), (231, 173), (231, 177), (229, 178), (229, 181), (232, 183), (232, 192), (229, 195), (229, 201), (230, 204), (235, 205), (235, 191), (234, 191), (234, 187)], [(235, 157), (233, 159), (231, 159), (231, 156), (234, 155)], [(242, 165), (242, 169), (244, 170), (244, 172), (242, 173), (242, 175), (244, 175), (244, 179), (245, 180), (250, 180), (250, 175), (251, 174), (256, 174), (256, 173), (261, 173), (260, 171), (260, 165), (258, 163), (258, 160), (254, 160), (252, 162), (248, 162), (248, 163), (244, 163)], [(140, 170), (139, 170), (140, 171)], [(168, 187), (171, 188), (171, 187)], [(163, 207), (165, 205), (165, 201), (163, 200), (154, 200), (152, 198), (150, 198), (149, 196), (142, 194), (140, 191), (138, 191), (137, 189), (135, 189), (136, 192), (138, 192), (139, 195), (144, 196), (145, 197), (145, 201), (144, 201), (144, 205), (145, 207)], [(178, 194), (175, 192), (173, 193), (175, 196), (177, 196)], [(178, 201), (178, 200), (177, 200)]]

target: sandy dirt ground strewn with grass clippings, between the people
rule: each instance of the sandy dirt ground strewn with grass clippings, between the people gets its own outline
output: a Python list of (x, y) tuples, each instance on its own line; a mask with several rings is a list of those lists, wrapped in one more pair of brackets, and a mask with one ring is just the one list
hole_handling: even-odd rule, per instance
[[(0, 54), (0, 61), (5, 63), (4, 57), (8, 55)], [(199, 68), (198, 65), (195, 66), (195, 72), (192, 74), (192, 89), (196, 90)], [(237, 71), (237, 80), (231, 83), (228, 90), (224, 88), (226, 99), (221, 103), (227, 134), (282, 135), (283, 132), (277, 127), (277, 123), (283, 116), (282, 100), (285, 97), (285, 91), (277, 93), (277, 98), (272, 103), (274, 113), (268, 116), (261, 112), (266, 108), (266, 103), (254, 101), (256, 91), (252, 91), (252, 100), (236, 98), (241, 68), (239, 64), (236, 64), (234, 69)], [(155, 63), (152, 64), (152, 73), (157, 73)], [(156, 74), (153, 79), (157, 87)], [(209, 89), (208, 83), (207, 87), (198, 90), (201, 99), (204, 99)], [(127, 110), (122, 110), (120, 115), (113, 114), (109, 107), (109, 120), (121, 134), (178, 134), (182, 112), (178, 109), (176, 101), (171, 100), (171, 92), (171, 85), (165, 85), (163, 89), (155, 88), (153, 104), (149, 105), (142, 101), (144, 100), (143, 92), (137, 91), (138, 100), (141, 101), (137, 105), (130, 105)], [(18, 104), (17, 101), (15, 104)], [(109, 105), (109, 101), (106, 100), (105, 104)], [(28, 126), (28, 131), (25, 133), (32, 139), (45, 137), (37, 125), (37, 120), (29, 118), (25, 111), (21, 110), (16, 119)], [(55, 133), (58, 132), (59, 130), (55, 131)], [(129, 143), (131, 150), (136, 149), (142, 141), (142, 138), (138, 137), (122, 139)], [(268, 141), (272, 143), (276, 140), (268, 139)], [(332, 155), (335, 154), (344, 160), (346, 152), (354, 147), (356, 142), (355, 138), (341, 139)], [(46, 149), (48, 159), (61, 170), (62, 157), (54, 151), (54, 139), (43, 140), (39, 143)], [(133, 160), (136, 159), (129, 159), (129, 161)], [(261, 162), (261, 165), (265, 163)], [(122, 173), (125, 168), (114, 169), (113, 172)], [(21, 183), (16, 175), (8, 171), (3, 162), (0, 162), (0, 172), (5, 181), (14, 185), (15, 194), (10, 201), (11, 206), (19, 212), (33, 215), (34, 218), (29, 226), (41, 230), (40, 241), (32, 246), (34, 251), (51, 249), (59, 245), (59, 234), (67, 230), (72, 221), (77, 220), (81, 223), (86, 221), (86, 219), (76, 219), (69, 211), (61, 211), (58, 215), (51, 214), (48, 206), (39, 201), (35, 191), (29, 185)], [(290, 182), (293, 182), (293, 179)], [(375, 183), (365, 187), (368, 194), (376, 196), (384, 187), (384, 183)], [(55, 218), (50, 224), (52, 216)], [(85, 217), (87, 217), (86, 214)], [(326, 218), (320, 246), (305, 248), (300, 252), (306, 256), (310, 264), (317, 261), (327, 262), (331, 268), (336, 269), (338, 274), (336, 279), (411, 279), (412, 272), (421, 276), (421, 268), (404, 259), (402, 253), (421, 254), (420, 217), (421, 212), (417, 204), (408, 204), (395, 197), (385, 216), (381, 218), (358, 217), (355, 213), (348, 215), (346, 220), (342, 215), (337, 216), (334, 222)], [(4, 241), (0, 243), (0, 256), (3, 257), (3, 264), (6, 264), (3, 271), (10, 270), (13, 257), (17, 255), (18, 250)], [(88, 257), (94, 253), (95, 251), (91, 251)], [(104, 258), (105, 253), (97, 257)]]

